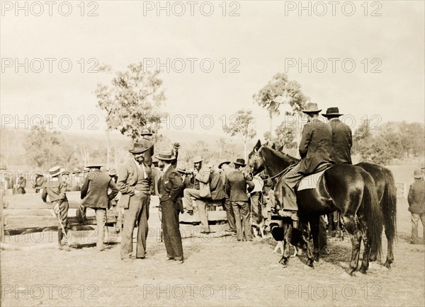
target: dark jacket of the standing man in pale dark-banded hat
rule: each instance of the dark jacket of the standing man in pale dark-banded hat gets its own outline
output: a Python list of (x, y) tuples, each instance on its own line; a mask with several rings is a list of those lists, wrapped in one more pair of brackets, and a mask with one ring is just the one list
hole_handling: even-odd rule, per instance
[(171, 200), (176, 204), (177, 199), (181, 197), (182, 190), (183, 180), (181, 180), (181, 175), (174, 166), (169, 166), (159, 182), (159, 202)]

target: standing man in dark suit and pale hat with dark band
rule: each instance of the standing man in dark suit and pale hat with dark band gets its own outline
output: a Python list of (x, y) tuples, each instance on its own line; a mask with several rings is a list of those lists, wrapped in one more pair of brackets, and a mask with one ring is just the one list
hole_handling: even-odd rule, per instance
[(181, 175), (171, 164), (175, 159), (171, 151), (162, 151), (157, 156), (163, 174), (159, 181), (159, 205), (162, 212), (162, 233), (167, 260), (183, 263), (183, 245), (179, 229), (179, 198), (183, 190)]

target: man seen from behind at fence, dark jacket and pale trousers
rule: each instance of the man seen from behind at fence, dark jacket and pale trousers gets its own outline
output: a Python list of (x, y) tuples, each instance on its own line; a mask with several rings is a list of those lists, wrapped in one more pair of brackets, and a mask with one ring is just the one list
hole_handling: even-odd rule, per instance
[[(90, 168), (89, 175), (87, 175), (83, 186), (81, 187), (81, 211), (92, 208), (96, 212), (97, 224), (97, 243), (96, 248), (99, 252), (105, 250), (105, 224), (106, 224), (106, 210), (109, 209), (111, 201), (118, 194), (118, 187), (113, 182), (112, 178), (101, 171), (101, 165), (94, 164), (86, 166)], [(111, 193), (108, 195), (108, 188)]]

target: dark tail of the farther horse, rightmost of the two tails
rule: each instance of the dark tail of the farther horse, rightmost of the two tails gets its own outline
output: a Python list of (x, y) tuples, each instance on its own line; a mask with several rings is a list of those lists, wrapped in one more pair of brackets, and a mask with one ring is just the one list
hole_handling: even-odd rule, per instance
[(385, 236), (388, 241), (397, 239), (397, 188), (391, 170), (383, 168), (385, 190), (382, 194), (381, 207), (384, 213)]

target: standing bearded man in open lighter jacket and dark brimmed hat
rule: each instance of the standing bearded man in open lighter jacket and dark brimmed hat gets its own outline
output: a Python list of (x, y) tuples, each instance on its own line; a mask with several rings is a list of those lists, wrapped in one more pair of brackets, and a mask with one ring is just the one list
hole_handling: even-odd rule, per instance
[(135, 143), (130, 153), (133, 155), (125, 166), (118, 170), (117, 186), (121, 192), (118, 206), (124, 208), (123, 233), (121, 235), (121, 260), (131, 262), (132, 233), (137, 222), (136, 258), (146, 257), (149, 202), (151, 191), (151, 169), (145, 164), (145, 151), (149, 148)]

